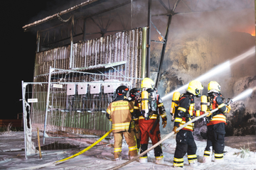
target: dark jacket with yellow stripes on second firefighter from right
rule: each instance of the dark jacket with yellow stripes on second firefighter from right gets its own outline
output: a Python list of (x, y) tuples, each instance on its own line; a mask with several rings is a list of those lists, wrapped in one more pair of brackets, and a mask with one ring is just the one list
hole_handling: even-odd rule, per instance
[[(203, 115), (203, 111), (195, 111), (195, 101), (193, 95), (186, 93), (181, 94), (181, 98), (178, 101), (178, 109), (175, 115), (174, 126), (179, 127), (179, 125), (184, 125), (190, 121), (193, 117)], [(189, 130), (193, 132), (194, 123), (188, 124), (182, 130)]]

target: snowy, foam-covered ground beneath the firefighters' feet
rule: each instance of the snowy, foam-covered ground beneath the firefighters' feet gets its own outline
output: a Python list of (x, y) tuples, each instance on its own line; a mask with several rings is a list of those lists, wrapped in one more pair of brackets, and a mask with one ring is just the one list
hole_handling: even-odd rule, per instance
[[(132, 162), (123, 166), (120, 169), (174, 169), (172, 167), (174, 159), (174, 150), (176, 147), (175, 136), (170, 137), (163, 143), (164, 151), (164, 165), (154, 164), (154, 152), (149, 152), (149, 163), (141, 164), (139, 162)], [(226, 137), (226, 145), (248, 148), (249, 145), (251, 150), (255, 149), (256, 136), (245, 136), (245, 137)], [(47, 139), (46, 139), (47, 140)], [(105, 140), (107, 141), (107, 140)], [(87, 152), (80, 154), (78, 157), (69, 159), (67, 162), (58, 164), (55, 166), (46, 166), (49, 162), (55, 162), (60, 159), (65, 159), (73, 154), (80, 152), (85, 147), (90, 146), (84, 142), (70, 141), (76, 145), (80, 145), (76, 149), (63, 149), (63, 150), (51, 150), (43, 151), (43, 158), (39, 159), (38, 154), (28, 156), (28, 159), (24, 159), (24, 142), (23, 132), (10, 132), (7, 134), (0, 135), (0, 169), (38, 169), (39, 166), (44, 166), (41, 169), (111, 169), (119, 164), (127, 162), (128, 148), (124, 142), (122, 149), (122, 161), (113, 162), (114, 149), (112, 145), (98, 145), (92, 147)], [(111, 143), (112, 140), (109, 140)], [(247, 152), (241, 154), (242, 149), (235, 149), (232, 147), (225, 147), (225, 162), (215, 163), (210, 162), (203, 164), (202, 157), (203, 151), (206, 147), (206, 141), (198, 141), (197, 144), (197, 155), (198, 155), (198, 166), (194, 169), (256, 169), (256, 152)], [(242, 157), (245, 158), (242, 158)], [(183, 169), (191, 169), (188, 165), (188, 159), (184, 157)]]

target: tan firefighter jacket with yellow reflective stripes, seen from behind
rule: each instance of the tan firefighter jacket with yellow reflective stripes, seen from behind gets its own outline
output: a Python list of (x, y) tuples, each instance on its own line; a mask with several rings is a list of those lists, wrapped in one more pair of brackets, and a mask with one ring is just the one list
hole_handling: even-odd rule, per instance
[[(107, 118), (112, 121), (112, 132), (124, 132), (134, 128), (132, 121), (134, 104), (126, 96), (117, 98), (107, 107)], [(131, 125), (130, 125), (131, 124)]]

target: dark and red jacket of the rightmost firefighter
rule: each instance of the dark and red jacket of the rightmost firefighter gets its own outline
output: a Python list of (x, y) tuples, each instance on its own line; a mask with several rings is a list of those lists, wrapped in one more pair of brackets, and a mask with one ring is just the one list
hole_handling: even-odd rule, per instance
[(209, 110), (213, 110), (215, 108), (218, 108), (218, 111), (215, 111), (213, 113), (213, 117), (210, 119), (210, 122), (207, 123), (208, 125), (215, 125), (218, 123), (225, 123), (227, 124), (226, 117), (223, 113), (226, 113), (228, 111), (228, 108), (223, 103), (223, 98), (221, 97), (221, 94), (217, 93), (210, 93), (208, 94), (208, 102), (210, 102), (210, 108)]

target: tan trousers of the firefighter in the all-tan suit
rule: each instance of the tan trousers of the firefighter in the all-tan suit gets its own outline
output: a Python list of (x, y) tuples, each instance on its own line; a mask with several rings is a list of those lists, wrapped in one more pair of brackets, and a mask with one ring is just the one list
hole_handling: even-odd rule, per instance
[(131, 132), (114, 132), (114, 159), (121, 157), (123, 135), (129, 147), (129, 157), (136, 157), (138, 154), (134, 130)]

